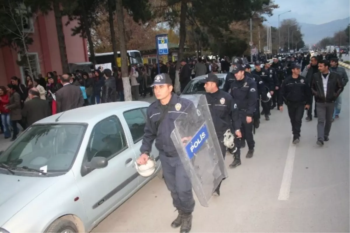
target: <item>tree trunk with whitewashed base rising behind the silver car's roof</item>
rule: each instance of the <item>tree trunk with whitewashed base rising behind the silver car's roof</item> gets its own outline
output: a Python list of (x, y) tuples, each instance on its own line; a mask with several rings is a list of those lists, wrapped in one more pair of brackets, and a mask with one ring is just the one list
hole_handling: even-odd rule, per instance
[(120, 60), (121, 60), (121, 77), (123, 79), (124, 97), (125, 101), (132, 101), (131, 86), (128, 72), (128, 56), (126, 50), (126, 38), (125, 38), (125, 24), (124, 24), (124, 11), (122, 0), (116, 0), (117, 11), (117, 26), (119, 31), (119, 43), (120, 43)]

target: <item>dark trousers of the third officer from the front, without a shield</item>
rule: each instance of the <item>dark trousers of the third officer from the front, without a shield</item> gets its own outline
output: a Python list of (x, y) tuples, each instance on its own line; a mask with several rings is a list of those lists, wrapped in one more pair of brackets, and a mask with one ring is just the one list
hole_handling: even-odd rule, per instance
[[(267, 104), (267, 103), (265, 103)], [(266, 113), (265, 113), (266, 114)], [(253, 121), (247, 123), (247, 111), (239, 110), (239, 118), (242, 121), (242, 126), (240, 128), (242, 139), (247, 141), (247, 145), (249, 149), (254, 149), (255, 142), (253, 137)], [(235, 138), (235, 143), (237, 148), (240, 148), (240, 140)], [(240, 150), (237, 149), (237, 153), (240, 153)]]

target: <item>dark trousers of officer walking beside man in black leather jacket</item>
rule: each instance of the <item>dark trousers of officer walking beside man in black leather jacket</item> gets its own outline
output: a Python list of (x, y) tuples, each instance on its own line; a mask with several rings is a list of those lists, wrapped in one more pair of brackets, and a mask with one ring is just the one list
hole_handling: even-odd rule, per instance
[(292, 123), (293, 135), (300, 137), (301, 121), (304, 115), (305, 103), (288, 103), (287, 107), (290, 123)]

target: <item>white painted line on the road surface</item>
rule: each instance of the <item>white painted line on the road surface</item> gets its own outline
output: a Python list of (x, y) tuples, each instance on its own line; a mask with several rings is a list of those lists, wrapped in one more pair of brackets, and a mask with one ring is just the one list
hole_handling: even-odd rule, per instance
[(295, 158), (295, 145), (293, 144), (293, 135), (290, 139), (287, 160), (285, 165), (285, 170), (283, 172), (283, 178), (280, 188), (280, 193), (278, 195), (278, 200), (288, 200), (290, 193), (290, 184), (292, 183), (294, 158)]

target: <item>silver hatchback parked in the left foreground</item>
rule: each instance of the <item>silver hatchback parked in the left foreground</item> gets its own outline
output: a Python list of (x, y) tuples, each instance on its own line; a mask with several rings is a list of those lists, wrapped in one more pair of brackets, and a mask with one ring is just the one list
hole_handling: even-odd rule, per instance
[(42, 119), (0, 155), (0, 232), (82, 233), (150, 181), (134, 162), (149, 103), (91, 105)]

